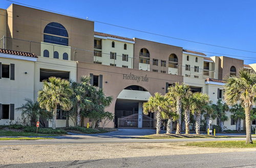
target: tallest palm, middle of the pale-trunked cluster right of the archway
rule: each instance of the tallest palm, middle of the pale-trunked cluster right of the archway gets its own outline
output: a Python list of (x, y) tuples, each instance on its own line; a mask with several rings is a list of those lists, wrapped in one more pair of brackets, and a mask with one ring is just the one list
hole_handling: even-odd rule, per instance
[(178, 82), (175, 83), (175, 86), (168, 88), (168, 93), (170, 97), (174, 97), (176, 100), (176, 113), (178, 114), (179, 118), (177, 120), (177, 128), (176, 133), (181, 132), (181, 109), (182, 109), (182, 98), (186, 97), (190, 94), (190, 88), (185, 83), (179, 84)]

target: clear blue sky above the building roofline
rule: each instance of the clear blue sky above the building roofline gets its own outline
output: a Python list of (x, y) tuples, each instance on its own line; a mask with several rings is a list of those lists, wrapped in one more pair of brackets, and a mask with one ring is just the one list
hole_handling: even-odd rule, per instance
[[(0, 1), (0, 8), (6, 9), (11, 4), (6, 0)], [(245, 64), (256, 63), (256, 1), (253, 0), (16, 0), (16, 2), (77, 17), (89, 17), (91, 20), (131, 27), (146, 32), (254, 51), (252, 53), (213, 47), (95, 23), (95, 31), (98, 32), (129, 38), (137, 37), (187, 49), (241, 55), (241, 57), (233, 58), (243, 59)]]

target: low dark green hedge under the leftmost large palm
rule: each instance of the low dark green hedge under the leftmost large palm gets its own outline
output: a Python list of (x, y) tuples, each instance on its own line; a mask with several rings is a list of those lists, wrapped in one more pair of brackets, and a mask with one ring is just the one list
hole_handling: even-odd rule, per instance
[[(36, 127), (27, 126), (24, 128), (24, 132), (36, 132)], [(67, 131), (61, 129), (52, 129), (52, 128), (38, 128), (38, 133), (44, 134), (67, 134)]]

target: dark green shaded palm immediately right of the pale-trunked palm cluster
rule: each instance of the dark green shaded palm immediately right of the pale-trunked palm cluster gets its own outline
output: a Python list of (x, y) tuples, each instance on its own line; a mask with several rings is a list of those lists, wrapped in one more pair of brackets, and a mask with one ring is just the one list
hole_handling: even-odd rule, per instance
[(219, 123), (222, 132), (224, 130), (224, 122), (228, 120), (228, 117), (226, 116), (226, 111), (229, 110), (229, 107), (227, 103), (222, 103), (222, 99), (219, 99), (217, 104), (212, 104), (212, 107), (217, 117), (217, 123)]

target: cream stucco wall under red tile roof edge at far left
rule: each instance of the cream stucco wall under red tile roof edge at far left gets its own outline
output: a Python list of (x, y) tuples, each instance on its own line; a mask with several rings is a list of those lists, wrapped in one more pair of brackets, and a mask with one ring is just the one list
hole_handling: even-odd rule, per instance
[[(3, 64), (14, 64), (14, 80), (10, 78), (0, 79), (0, 103), (14, 104), (14, 109), (20, 107), (26, 101), (25, 98), (34, 99), (34, 62), (15, 59), (0, 58)], [(27, 72), (27, 74), (25, 74)], [(10, 116), (9, 116), (10, 117)], [(14, 110), (14, 120), (21, 122), (21, 111)], [(0, 125), (8, 125), (10, 120), (0, 120)]]

